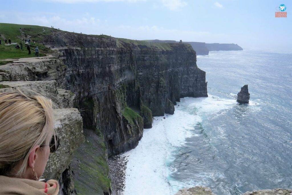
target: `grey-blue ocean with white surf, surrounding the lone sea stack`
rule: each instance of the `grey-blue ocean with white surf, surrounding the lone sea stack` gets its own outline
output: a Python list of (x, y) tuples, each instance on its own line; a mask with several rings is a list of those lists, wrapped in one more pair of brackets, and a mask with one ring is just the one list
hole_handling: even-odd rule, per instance
[[(292, 188), (292, 54), (214, 51), (197, 56), (208, 96), (155, 117), (128, 156), (124, 195), (173, 195), (203, 185), (217, 195)], [(249, 104), (236, 102), (248, 84)]]

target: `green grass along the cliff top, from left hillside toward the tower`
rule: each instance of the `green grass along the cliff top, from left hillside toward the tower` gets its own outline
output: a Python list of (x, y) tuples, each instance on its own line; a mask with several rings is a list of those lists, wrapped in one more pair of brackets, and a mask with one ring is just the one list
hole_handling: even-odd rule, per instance
[[(39, 47), (39, 56), (45, 56), (46, 53), (52, 53), (53, 51), (49, 48), (46, 48), (42, 43), (44, 41), (44, 36), (50, 35), (53, 32), (62, 32), (60, 30), (35, 26), (35, 25), (19, 25), (19, 24), (8, 24), (0, 23), (0, 39), (2, 44), (0, 45), (0, 60), (11, 59), (11, 58), (29, 58), (34, 57), (34, 49), (36, 46)], [(82, 34), (83, 35), (83, 34)], [(108, 35), (88, 35), (88, 36), (97, 36), (99, 38), (114, 38)], [(28, 51), (23, 39), (29, 38), (30, 48), (32, 55), (28, 55)], [(11, 45), (5, 45), (4, 39), (11, 39)], [(175, 43), (153, 43), (149, 41), (139, 41), (131, 39), (122, 39), (115, 38), (117, 41), (117, 47), (128, 48), (131, 46), (139, 46), (140, 49), (153, 49), (161, 51), (171, 51), (173, 50), (173, 44)], [(16, 49), (15, 44), (22, 41), (23, 50)], [(34, 45), (34, 41), (36, 42)], [(14, 43), (14, 44), (13, 44)], [(192, 51), (190, 45), (186, 45), (188, 51)], [(0, 63), (1, 64), (1, 63)]]

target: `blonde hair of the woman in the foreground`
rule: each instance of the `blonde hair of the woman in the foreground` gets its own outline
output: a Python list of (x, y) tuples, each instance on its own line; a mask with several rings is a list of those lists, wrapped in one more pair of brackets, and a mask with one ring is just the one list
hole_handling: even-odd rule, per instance
[[(55, 135), (51, 100), (21, 91), (0, 93), (0, 175), (22, 177), (29, 153)], [(11, 175), (11, 170), (19, 166)]]

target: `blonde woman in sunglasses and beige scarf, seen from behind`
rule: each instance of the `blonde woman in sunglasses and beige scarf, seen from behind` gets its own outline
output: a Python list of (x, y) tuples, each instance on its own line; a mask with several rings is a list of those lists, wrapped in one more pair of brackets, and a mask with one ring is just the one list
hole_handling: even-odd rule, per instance
[(0, 194), (57, 195), (56, 180), (39, 180), (55, 140), (51, 100), (0, 93)]

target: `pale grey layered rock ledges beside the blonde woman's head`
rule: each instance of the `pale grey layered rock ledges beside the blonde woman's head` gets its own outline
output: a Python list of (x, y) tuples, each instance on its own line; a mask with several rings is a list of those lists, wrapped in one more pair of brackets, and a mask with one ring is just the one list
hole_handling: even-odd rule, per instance
[[(60, 145), (55, 153), (50, 154), (42, 178), (59, 180), (60, 194), (75, 194), (74, 174), (70, 163), (73, 153), (84, 142), (83, 122), (78, 109), (69, 108), (73, 105), (74, 94), (72, 92), (58, 89), (55, 80), (27, 81), (31, 77), (38, 77), (34, 73), (46, 68), (50, 74), (54, 74), (50, 68), (54, 67), (58, 60), (51, 57), (43, 59), (32, 58), (29, 59), (30, 62), (27, 62), (26, 59), (17, 59), (15, 61), (21, 61), (21, 63), (10, 63), (1, 67), (3, 69), (0, 70), (0, 78), (5, 78), (6, 81), (0, 82), (0, 93), (21, 90), (27, 95), (43, 95), (53, 100), (54, 108), (59, 108), (53, 109), (53, 118)], [(31, 61), (34, 62), (31, 63)], [(41, 67), (40, 65), (44, 65), (44, 62), (46, 66)], [(50, 79), (51, 75), (46, 78)]]

